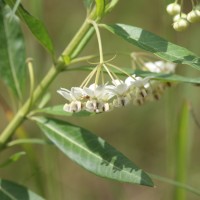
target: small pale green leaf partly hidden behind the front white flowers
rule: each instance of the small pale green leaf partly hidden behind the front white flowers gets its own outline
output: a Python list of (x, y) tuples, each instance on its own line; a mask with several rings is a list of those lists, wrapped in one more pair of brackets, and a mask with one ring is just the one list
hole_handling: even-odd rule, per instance
[(52, 107), (46, 107), (38, 110), (34, 110), (34, 113), (46, 113), (50, 115), (60, 115), (60, 116), (78, 116), (78, 117), (84, 117), (84, 116), (91, 116), (95, 115), (94, 113), (87, 112), (87, 111), (81, 111), (77, 113), (70, 113), (63, 110), (63, 105), (57, 105)]

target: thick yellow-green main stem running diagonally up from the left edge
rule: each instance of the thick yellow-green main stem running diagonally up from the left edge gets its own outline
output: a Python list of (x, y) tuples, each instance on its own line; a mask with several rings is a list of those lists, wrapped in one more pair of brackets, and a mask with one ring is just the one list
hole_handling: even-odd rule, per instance
[[(91, 11), (91, 14), (88, 18), (90, 20), (95, 20), (95, 9)], [(91, 29), (92, 29), (91, 24), (89, 24), (88, 19), (86, 19), (83, 25), (80, 27), (77, 34), (74, 36), (74, 38), (71, 40), (71, 42), (67, 46), (67, 48), (63, 51), (62, 55), (69, 57), (70, 59), (72, 58), (71, 55), (74, 52), (76, 52), (76, 55), (78, 55), (78, 53), (80, 53), (80, 51), (83, 49), (83, 47), (87, 43), (88, 38), (91, 37), (93, 33), (91, 32)], [(90, 35), (87, 34), (88, 32), (90, 33)], [(87, 35), (87, 40), (85, 40), (86, 35)], [(82, 42), (82, 40), (84, 40), (84, 42)], [(44, 94), (45, 90), (56, 78), (59, 72), (62, 71), (62, 69), (63, 69), (63, 60), (62, 60), (62, 56), (60, 56), (58, 59), (58, 64), (50, 68), (49, 72), (46, 74), (44, 79), (41, 81), (41, 83), (37, 86), (37, 88), (33, 92), (32, 97), (29, 97), (29, 99), (19, 109), (19, 111), (16, 113), (12, 121), (8, 124), (8, 126), (4, 129), (4, 131), (0, 135), (0, 149), (3, 149), (5, 147), (6, 143), (14, 134), (15, 130), (26, 119), (26, 116), (30, 112), (31, 108), (35, 105), (38, 99)]]

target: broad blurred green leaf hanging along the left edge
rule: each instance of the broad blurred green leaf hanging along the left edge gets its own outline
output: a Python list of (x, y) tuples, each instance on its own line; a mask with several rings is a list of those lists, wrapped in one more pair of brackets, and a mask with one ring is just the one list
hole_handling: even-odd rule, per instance
[(19, 19), (0, 4), (0, 78), (13, 93), (22, 97), (25, 82), (25, 45)]

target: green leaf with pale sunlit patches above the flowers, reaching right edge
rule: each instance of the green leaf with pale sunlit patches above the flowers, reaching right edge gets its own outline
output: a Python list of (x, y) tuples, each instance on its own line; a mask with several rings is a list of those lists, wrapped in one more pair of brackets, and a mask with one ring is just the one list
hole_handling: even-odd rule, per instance
[(193, 52), (141, 28), (125, 24), (102, 25), (129, 43), (152, 52), (164, 60), (190, 65), (200, 70), (200, 57)]

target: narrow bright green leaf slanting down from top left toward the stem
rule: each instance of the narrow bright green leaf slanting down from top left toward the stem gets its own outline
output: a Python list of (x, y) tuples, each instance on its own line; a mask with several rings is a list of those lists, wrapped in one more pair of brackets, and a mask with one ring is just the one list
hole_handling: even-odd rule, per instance
[[(5, 0), (5, 2), (13, 8), (16, 0)], [(48, 52), (54, 56), (54, 48), (51, 38), (44, 26), (44, 24), (32, 16), (24, 7), (20, 4), (16, 14), (23, 20), (33, 35), (37, 38), (37, 40), (48, 50)]]

